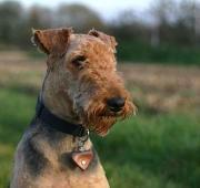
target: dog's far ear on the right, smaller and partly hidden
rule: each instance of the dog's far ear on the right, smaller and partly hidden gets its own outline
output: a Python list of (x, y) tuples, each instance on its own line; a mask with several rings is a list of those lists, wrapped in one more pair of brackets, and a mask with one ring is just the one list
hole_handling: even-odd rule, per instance
[(90, 30), (88, 34), (89, 34), (89, 35), (93, 35), (93, 36), (99, 38), (100, 40), (102, 40), (102, 41), (103, 41), (106, 44), (108, 44), (108, 45), (113, 50), (113, 52), (116, 53), (116, 46), (118, 45), (118, 43), (117, 43), (114, 36), (104, 34), (103, 32), (97, 31), (97, 30), (94, 30), (94, 29)]

